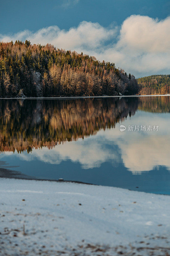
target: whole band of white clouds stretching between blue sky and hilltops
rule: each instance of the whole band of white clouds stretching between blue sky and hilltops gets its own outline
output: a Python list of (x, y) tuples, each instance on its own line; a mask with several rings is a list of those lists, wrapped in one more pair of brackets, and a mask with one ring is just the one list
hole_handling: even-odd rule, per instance
[(1, 41), (29, 39), (32, 44), (51, 43), (58, 48), (84, 52), (99, 60), (115, 62), (135, 76), (168, 74), (170, 67), (170, 17), (155, 20), (132, 15), (118, 27), (102, 27), (83, 21), (78, 27), (61, 30), (57, 26), (28, 30), (15, 35), (0, 35)]

